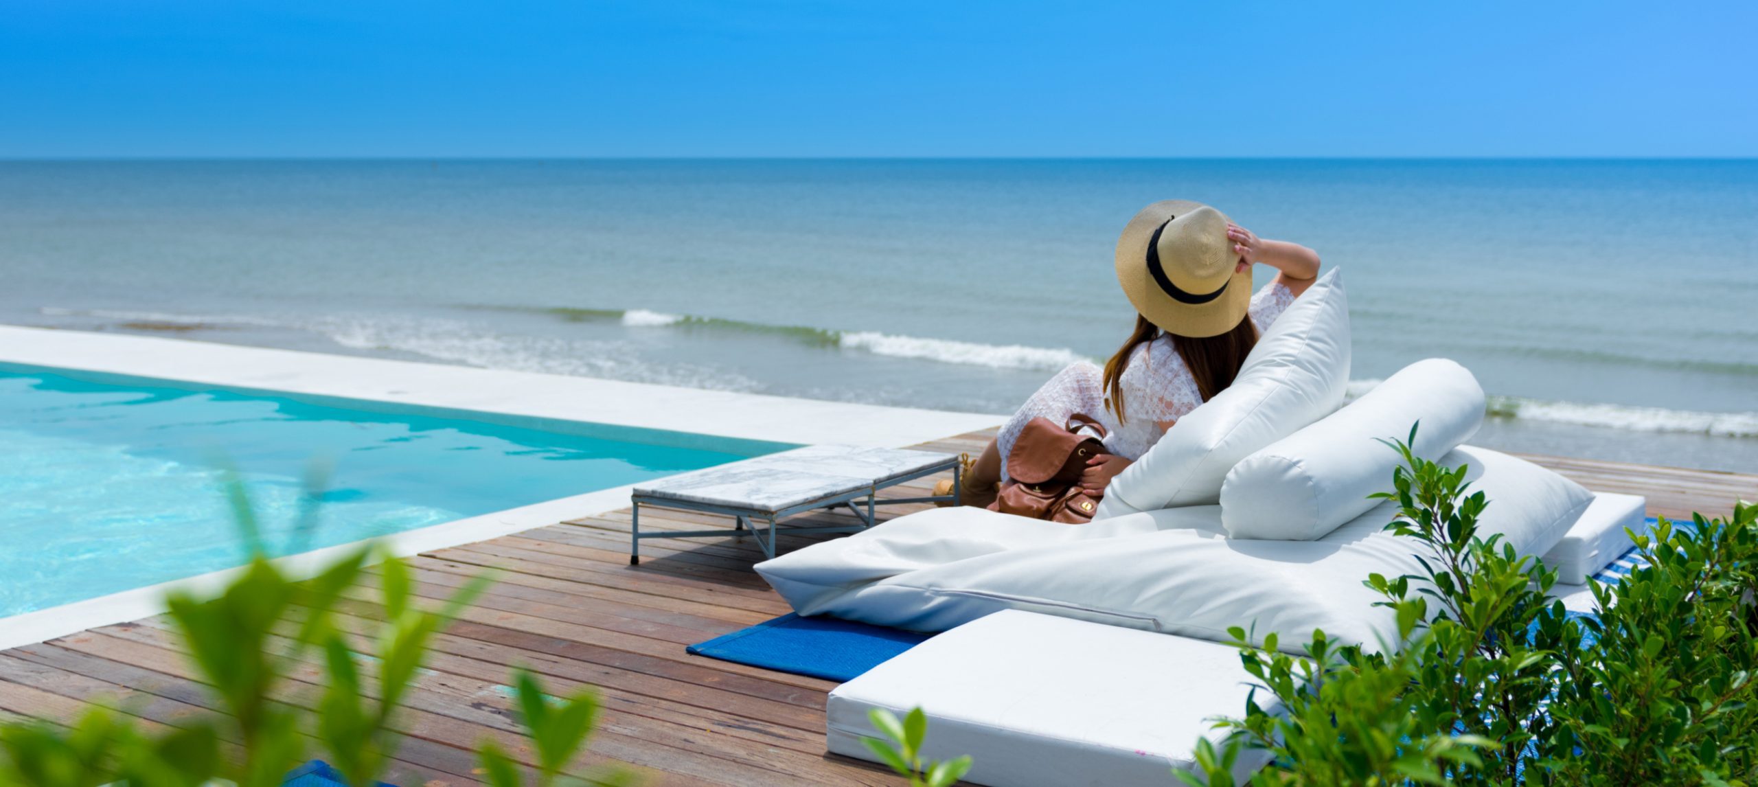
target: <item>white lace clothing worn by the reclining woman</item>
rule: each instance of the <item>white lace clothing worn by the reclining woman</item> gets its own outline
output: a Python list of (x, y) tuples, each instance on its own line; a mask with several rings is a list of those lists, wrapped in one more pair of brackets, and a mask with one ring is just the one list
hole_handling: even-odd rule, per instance
[[(1269, 329), (1269, 323), (1276, 321), (1292, 302), (1294, 293), (1280, 281), (1253, 293), (1248, 314), (1257, 325), (1257, 332), (1262, 334)], [(1136, 346), (1129, 355), (1129, 364), (1123, 365), (1118, 390), (1123, 394), (1123, 415), (1127, 416), (1123, 423), (1118, 423), (1116, 415), (1104, 406), (1104, 369), (1097, 364), (1090, 360), (1069, 364), (1055, 378), (1050, 378), (1000, 427), (997, 448), (1002, 457), (1002, 478), (1007, 478), (1007, 451), (1020, 437), (1020, 430), (1025, 429), (1025, 422), (1032, 418), (1044, 416), (1065, 423), (1074, 413), (1088, 415), (1111, 432), (1104, 441), (1111, 453), (1141, 458), (1166, 434), (1171, 422), (1202, 404), (1197, 379), (1190, 376), (1190, 369), (1185, 369), (1185, 358), (1178, 355), (1173, 339), (1166, 334)]]

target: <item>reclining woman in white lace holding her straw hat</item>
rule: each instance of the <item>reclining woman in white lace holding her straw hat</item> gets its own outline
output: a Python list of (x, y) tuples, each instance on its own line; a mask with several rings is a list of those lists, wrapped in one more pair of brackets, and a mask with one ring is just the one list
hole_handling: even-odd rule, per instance
[[(1252, 293), (1252, 264), (1276, 278)], [(1006, 481), (1004, 457), (1035, 416), (1065, 423), (1088, 415), (1109, 430), (1106, 448), (1139, 458), (1178, 418), (1239, 374), (1262, 330), (1318, 276), (1318, 255), (1266, 241), (1220, 211), (1185, 200), (1136, 214), (1116, 244), (1116, 278), (1136, 307), (1136, 330), (1101, 369), (1072, 364), (1050, 378), (963, 471), (960, 504), (986, 506)], [(939, 494), (951, 492), (942, 481)]]

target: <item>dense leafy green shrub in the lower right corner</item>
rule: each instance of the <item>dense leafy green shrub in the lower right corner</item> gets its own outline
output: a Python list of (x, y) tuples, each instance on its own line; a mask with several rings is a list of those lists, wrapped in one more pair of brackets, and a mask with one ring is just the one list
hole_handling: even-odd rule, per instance
[[(1412, 439), (1415, 430), (1412, 430)], [(1246, 703), (1225, 747), (1199, 743), (1201, 775), (1231, 785), (1241, 750), (1275, 762), (1255, 785), (1744, 785), (1758, 782), (1758, 506), (1726, 520), (1661, 520), (1637, 536), (1647, 567), (1596, 585), (1598, 617), (1565, 613), (1556, 573), (1477, 536), (1493, 504), (1466, 467), (1415, 457), (1389, 531), (1424, 546), (1424, 573), (1373, 574), (1396, 611), (1394, 641), (1338, 646), (1322, 631), (1306, 657), (1231, 636), (1245, 669), (1285, 713)]]

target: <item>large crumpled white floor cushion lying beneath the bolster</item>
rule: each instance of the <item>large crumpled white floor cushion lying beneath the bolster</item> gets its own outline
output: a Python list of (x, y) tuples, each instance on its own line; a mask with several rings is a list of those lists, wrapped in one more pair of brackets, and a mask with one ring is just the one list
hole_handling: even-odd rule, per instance
[[(1482, 538), (1544, 555), (1593, 495), (1531, 462), (1459, 446), (1491, 499)], [(977, 508), (898, 516), (756, 566), (800, 615), (946, 631), (1000, 610), (1224, 641), (1227, 627), (1280, 632), (1299, 652), (1313, 629), (1375, 646), (1392, 631), (1369, 573), (1420, 571), (1412, 539), (1385, 532), (1384, 502), (1317, 541), (1225, 538), (1220, 506), (1187, 506), (1069, 527)]]

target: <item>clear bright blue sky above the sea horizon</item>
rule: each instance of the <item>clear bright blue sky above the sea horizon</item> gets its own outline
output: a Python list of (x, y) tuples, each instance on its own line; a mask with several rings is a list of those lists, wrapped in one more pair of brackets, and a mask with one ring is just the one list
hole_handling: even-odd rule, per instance
[(1751, 2), (0, 14), (0, 158), (1758, 155)]

